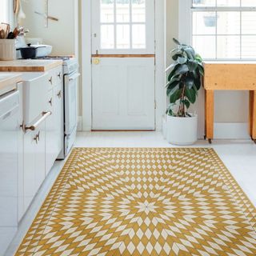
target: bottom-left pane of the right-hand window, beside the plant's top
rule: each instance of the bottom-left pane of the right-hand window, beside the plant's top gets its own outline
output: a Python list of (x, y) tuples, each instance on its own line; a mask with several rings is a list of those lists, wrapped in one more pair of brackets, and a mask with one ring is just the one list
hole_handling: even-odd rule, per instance
[(193, 46), (202, 58), (216, 58), (215, 36), (194, 36)]

